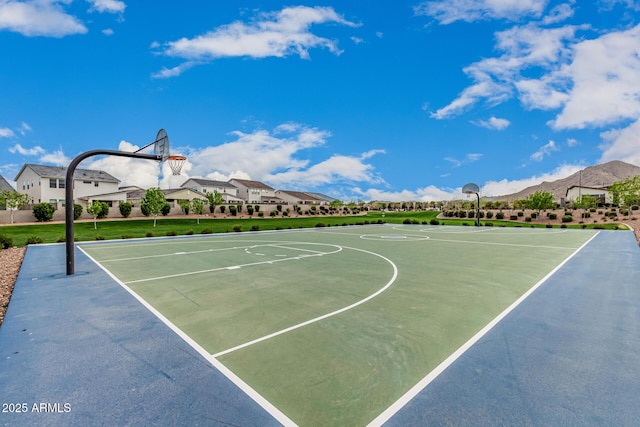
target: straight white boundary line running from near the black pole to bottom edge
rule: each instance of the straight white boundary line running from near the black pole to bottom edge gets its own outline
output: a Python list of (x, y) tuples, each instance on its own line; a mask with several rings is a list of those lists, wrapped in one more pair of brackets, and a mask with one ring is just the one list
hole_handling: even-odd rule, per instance
[(162, 323), (164, 323), (169, 329), (171, 329), (176, 335), (184, 340), (191, 348), (193, 348), (196, 352), (198, 352), (205, 360), (207, 360), (211, 365), (217, 369), (220, 373), (222, 373), (229, 381), (235, 384), (242, 392), (244, 392), (249, 398), (251, 398), (254, 402), (256, 402), (262, 409), (264, 409), (269, 415), (275, 418), (277, 421), (282, 423), (285, 426), (297, 426), (296, 423), (293, 422), (289, 417), (287, 417), (282, 411), (280, 411), (277, 407), (275, 407), (271, 402), (269, 402), (266, 398), (264, 398), (260, 393), (258, 393), (254, 388), (252, 388), (249, 384), (244, 382), (240, 377), (234, 374), (229, 368), (224, 366), (219, 360), (211, 357), (211, 354), (205, 350), (200, 344), (198, 344), (195, 340), (193, 340), (189, 335), (184, 333), (182, 329), (178, 328), (173, 322), (167, 319), (162, 313), (156, 310), (151, 304), (145, 301), (142, 297), (140, 297), (133, 289), (129, 288), (126, 284), (124, 284), (120, 279), (114, 276), (109, 270), (107, 270), (102, 264), (97, 262), (91, 255), (85, 252), (80, 246), (77, 246), (78, 250), (80, 250), (85, 256), (87, 256), (94, 264), (96, 264), (102, 271), (104, 271), (111, 279), (113, 279), (117, 284), (119, 284), (122, 288), (124, 288), (131, 296), (133, 296), (140, 304), (143, 305), (147, 310), (153, 313)]

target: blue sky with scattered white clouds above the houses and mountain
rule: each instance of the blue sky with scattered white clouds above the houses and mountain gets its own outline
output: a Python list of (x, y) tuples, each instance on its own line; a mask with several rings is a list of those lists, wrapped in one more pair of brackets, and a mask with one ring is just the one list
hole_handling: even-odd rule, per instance
[(639, 0), (0, 0), (0, 174), (160, 128), (182, 179), (81, 167), (430, 201), (640, 166), (639, 18)]

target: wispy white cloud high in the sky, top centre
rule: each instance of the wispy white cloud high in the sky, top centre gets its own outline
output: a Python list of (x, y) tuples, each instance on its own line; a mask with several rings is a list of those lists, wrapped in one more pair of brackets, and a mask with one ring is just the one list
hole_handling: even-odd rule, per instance
[[(313, 24), (327, 22), (357, 26), (331, 7), (287, 7), (279, 12), (262, 13), (249, 24), (236, 21), (192, 39), (183, 37), (168, 42), (161, 53), (196, 62), (239, 56), (282, 58), (298, 55), (308, 59), (309, 49), (317, 47), (340, 54), (336, 41), (316, 36), (309, 31)], [(179, 67), (171, 70), (171, 75), (184, 71)]]

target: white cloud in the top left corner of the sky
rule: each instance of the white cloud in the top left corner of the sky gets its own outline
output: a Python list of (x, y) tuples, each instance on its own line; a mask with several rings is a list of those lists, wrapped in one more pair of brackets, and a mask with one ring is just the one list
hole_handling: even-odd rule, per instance
[(61, 4), (66, 3), (55, 0), (1, 1), (0, 30), (28, 37), (64, 37), (86, 33), (87, 27), (62, 9)]

